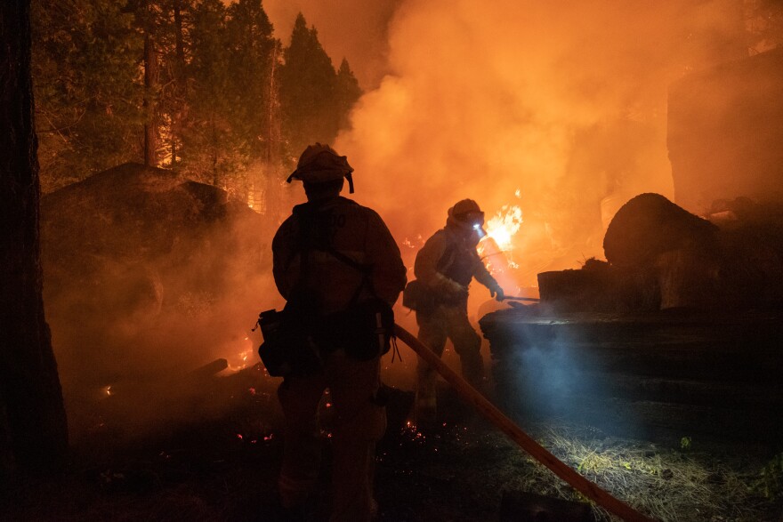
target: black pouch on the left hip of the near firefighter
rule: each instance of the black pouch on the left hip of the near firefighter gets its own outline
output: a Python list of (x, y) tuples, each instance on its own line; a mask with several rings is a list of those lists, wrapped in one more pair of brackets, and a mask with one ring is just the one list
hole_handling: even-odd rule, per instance
[(322, 367), (310, 328), (297, 323), (296, 315), (287, 309), (266, 310), (258, 317), (263, 335), (258, 355), (272, 377), (310, 375)]

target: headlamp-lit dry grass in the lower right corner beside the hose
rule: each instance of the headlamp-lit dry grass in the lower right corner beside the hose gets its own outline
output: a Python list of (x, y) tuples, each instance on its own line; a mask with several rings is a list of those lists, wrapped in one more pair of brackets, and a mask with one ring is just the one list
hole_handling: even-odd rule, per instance
[[(538, 427), (539, 442), (585, 478), (636, 510), (661, 521), (778, 520), (779, 503), (764, 498), (759, 488), (763, 454), (730, 446), (683, 451), (650, 442), (601, 437), (565, 426)], [(586, 502), (541, 464), (524, 478), (528, 491)], [(593, 505), (599, 520), (613, 519)]]

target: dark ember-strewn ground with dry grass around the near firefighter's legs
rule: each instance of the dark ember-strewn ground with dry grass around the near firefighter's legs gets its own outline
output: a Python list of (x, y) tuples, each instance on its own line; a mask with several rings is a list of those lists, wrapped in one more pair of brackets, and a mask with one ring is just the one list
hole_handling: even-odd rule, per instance
[[(281, 520), (275, 491), (283, 437), (276, 384), (256, 365), (176, 390), (127, 384), (101, 399), (71, 397), (71, 422), (81, 431), (72, 441), (67, 470), (26, 478), (4, 491), (0, 519)], [(390, 429), (377, 451), (380, 521), (499, 520), (501, 502), (513, 492), (585, 502), (445, 384), (439, 393), (442, 423), (423, 433), (407, 423), (412, 394), (391, 389)], [(191, 418), (194, 411), (203, 414), (198, 421)], [(702, 440), (661, 446), (555, 422), (524, 428), (585, 477), (653, 518), (783, 520), (783, 502), (772, 496), (780, 492), (771, 482), (779, 475), (762, 475), (779, 448)], [(326, 459), (314, 521), (327, 519), (327, 417), (323, 434)], [(593, 515), (611, 519), (595, 506)]]

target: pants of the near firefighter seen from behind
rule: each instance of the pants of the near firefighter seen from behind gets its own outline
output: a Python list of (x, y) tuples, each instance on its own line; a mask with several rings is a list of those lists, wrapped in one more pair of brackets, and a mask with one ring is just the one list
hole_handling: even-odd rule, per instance
[(327, 357), (323, 372), (282, 382), (278, 398), (286, 438), (278, 488), (285, 507), (305, 502), (316, 486), (321, 459), (318, 409), (328, 388), (334, 408), (330, 520), (363, 522), (373, 517), (375, 443), (386, 430), (386, 411), (376, 400), (379, 387), (380, 358), (357, 361), (343, 350)]

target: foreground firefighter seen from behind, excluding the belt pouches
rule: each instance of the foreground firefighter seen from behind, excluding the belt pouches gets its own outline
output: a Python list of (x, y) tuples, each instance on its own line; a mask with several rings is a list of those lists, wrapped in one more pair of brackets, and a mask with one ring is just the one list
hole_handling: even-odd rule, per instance
[[(389, 305), (406, 284), (400, 249), (375, 211), (340, 196), (353, 168), (327, 145), (304, 150), (287, 181), (303, 181), (307, 203), (296, 205), (272, 242), (273, 274), (289, 303), (306, 294), (310, 312), (333, 317), (351, 303), (372, 297)], [(311, 248), (303, 249), (303, 242)], [(362, 267), (366, 269), (361, 269)], [(286, 376), (278, 389), (285, 415), (280, 502), (295, 513), (312, 502), (319, 475), (319, 402), (326, 389), (333, 405), (333, 505), (331, 520), (374, 516), (375, 442), (386, 429), (380, 397), (380, 353), (352, 357), (339, 340), (320, 349), (314, 373)]]

